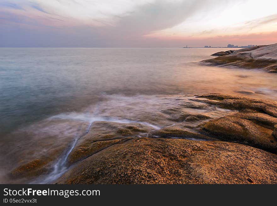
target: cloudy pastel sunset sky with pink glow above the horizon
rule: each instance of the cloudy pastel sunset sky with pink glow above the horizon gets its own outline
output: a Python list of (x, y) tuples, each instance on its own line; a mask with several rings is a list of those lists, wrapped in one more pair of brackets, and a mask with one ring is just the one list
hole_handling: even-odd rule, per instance
[(276, 0), (0, 0), (0, 47), (273, 43)]

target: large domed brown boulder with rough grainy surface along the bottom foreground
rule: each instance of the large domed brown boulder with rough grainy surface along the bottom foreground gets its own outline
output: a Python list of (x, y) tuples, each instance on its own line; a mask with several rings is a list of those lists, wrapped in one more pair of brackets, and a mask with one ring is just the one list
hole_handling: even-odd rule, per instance
[(250, 146), (134, 138), (72, 166), (62, 184), (276, 184), (277, 156)]

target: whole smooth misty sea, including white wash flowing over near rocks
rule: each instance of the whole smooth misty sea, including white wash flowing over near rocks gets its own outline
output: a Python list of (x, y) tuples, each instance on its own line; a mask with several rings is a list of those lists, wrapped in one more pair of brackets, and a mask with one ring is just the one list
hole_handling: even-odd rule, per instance
[[(197, 63), (221, 50), (0, 48), (0, 175), (39, 158), (46, 165), (40, 172), (55, 179), (66, 169), (68, 151), (94, 122), (195, 131), (178, 113), (218, 118), (231, 112), (187, 94), (277, 100), (277, 74)], [(172, 120), (167, 111), (175, 110)]]

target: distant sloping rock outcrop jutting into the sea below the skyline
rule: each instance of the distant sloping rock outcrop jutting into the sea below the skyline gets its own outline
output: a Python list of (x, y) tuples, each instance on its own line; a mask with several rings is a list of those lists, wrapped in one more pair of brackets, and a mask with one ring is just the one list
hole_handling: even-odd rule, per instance
[(214, 66), (239, 66), (246, 69), (263, 69), (269, 72), (277, 72), (277, 44), (243, 48), (235, 50), (229, 55), (201, 62)]

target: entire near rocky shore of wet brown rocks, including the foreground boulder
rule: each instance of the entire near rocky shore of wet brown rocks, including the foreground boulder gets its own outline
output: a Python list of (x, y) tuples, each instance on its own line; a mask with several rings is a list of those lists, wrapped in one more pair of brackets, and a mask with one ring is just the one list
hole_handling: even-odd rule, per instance
[[(172, 125), (95, 121), (52, 183), (277, 183), (277, 102), (223, 94), (164, 98), (167, 106), (148, 119)], [(56, 153), (51, 159), (62, 154)], [(47, 175), (47, 156), (9, 178)]]

